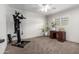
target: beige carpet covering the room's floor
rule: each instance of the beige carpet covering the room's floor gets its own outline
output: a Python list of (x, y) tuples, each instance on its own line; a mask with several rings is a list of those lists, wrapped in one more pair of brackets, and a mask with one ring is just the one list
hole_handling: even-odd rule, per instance
[(79, 53), (79, 44), (72, 42), (59, 42), (49, 37), (27, 39), (31, 42), (25, 48), (7, 46), (5, 54), (74, 54)]

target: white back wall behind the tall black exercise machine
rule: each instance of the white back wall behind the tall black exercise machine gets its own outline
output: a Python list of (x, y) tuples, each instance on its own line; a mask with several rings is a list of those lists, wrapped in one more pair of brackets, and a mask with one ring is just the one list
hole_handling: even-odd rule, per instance
[(45, 24), (45, 18), (43, 15), (10, 7), (7, 11), (7, 33), (10, 33), (12, 35), (14, 34), (14, 21), (12, 15), (15, 13), (15, 10), (20, 11), (26, 17), (26, 19), (23, 19), (21, 23), (21, 31), (23, 30), (23, 39), (42, 35), (41, 28)]

